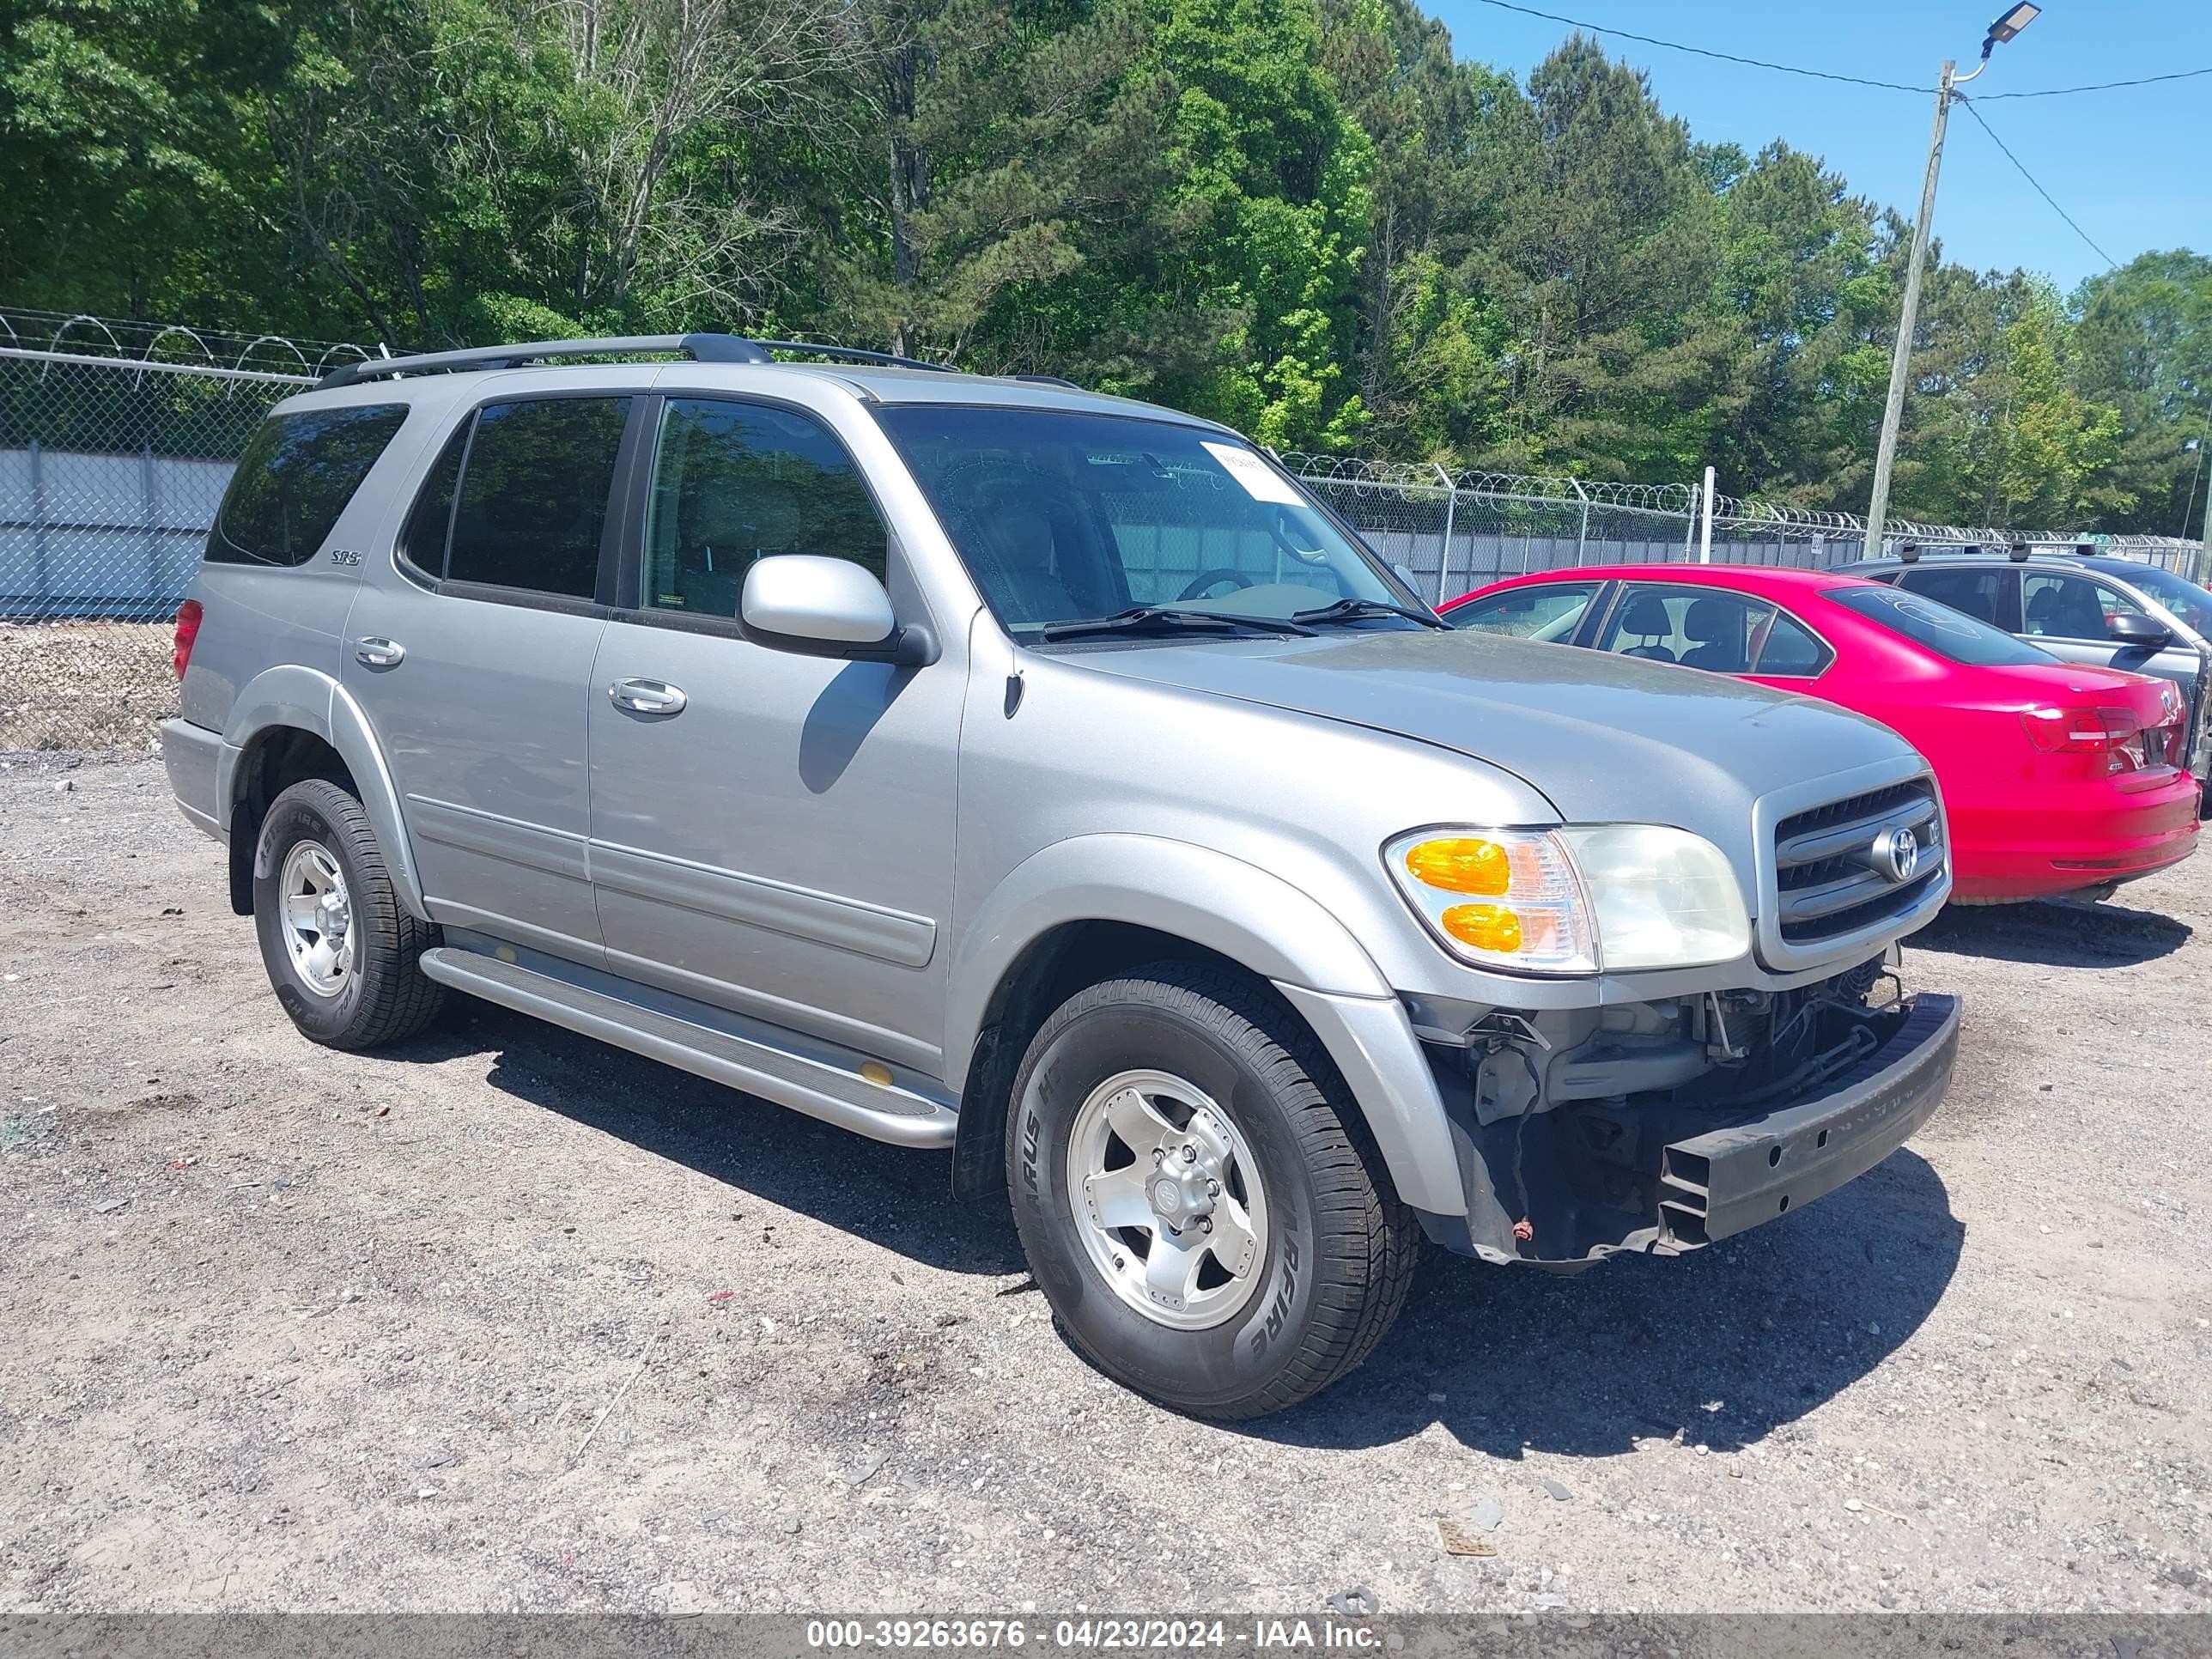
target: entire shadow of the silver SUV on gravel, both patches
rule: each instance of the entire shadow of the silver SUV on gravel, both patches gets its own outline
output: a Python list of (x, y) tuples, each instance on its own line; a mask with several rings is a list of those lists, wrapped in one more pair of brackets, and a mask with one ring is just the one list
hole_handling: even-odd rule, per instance
[[(949, 1159), (768, 1102), (491, 1004), (414, 1044), (484, 1055), (487, 1082), (911, 1261), (1024, 1274), (1004, 1203), (958, 1203)], [(1679, 1259), (1559, 1276), (1427, 1252), (1374, 1358), (1303, 1407), (1221, 1433), (1352, 1449), (1442, 1425), (1495, 1458), (1613, 1455), (1639, 1438), (1732, 1451), (1887, 1358), (1958, 1270), (1964, 1228), (1902, 1150), (1803, 1212)], [(1442, 1396), (1442, 1398), (1438, 1398)]]

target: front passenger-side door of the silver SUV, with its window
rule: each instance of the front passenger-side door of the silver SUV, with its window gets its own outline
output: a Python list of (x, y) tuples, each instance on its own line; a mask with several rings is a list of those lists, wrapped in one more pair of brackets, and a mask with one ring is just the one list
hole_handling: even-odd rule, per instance
[(739, 626), (745, 571), (852, 560), (929, 624), (827, 420), (657, 398), (639, 546), (591, 690), (591, 867), (608, 967), (942, 1075), (942, 929), (964, 639), (920, 668), (805, 657)]

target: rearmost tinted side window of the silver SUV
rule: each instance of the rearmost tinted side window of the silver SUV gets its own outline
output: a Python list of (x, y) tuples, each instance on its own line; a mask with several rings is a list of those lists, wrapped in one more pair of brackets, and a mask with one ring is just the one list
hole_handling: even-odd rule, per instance
[(208, 531), (217, 564), (305, 564), (407, 420), (400, 403), (274, 416), (239, 456)]

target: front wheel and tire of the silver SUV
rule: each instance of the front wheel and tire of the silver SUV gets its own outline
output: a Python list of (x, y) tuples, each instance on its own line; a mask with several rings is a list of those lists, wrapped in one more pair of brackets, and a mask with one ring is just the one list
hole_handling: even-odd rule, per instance
[[(1360, 1365), (1405, 1305), (1420, 1225), (1340, 1102), (1312, 1033), (1234, 971), (1159, 962), (1062, 1004), (1015, 1073), (1006, 1186), (1075, 1347), (1201, 1418), (1281, 1411)], [(1150, 1230), (1108, 1225), (1137, 1203)]]

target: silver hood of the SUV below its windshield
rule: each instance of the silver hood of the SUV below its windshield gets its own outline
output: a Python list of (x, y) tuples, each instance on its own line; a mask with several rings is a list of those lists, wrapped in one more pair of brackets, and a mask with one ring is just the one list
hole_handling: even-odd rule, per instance
[(1723, 847), (1770, 790), (1911, 754), (1889, 728), (1812, 697), (1486, 633), (1206, 639), (1071, 661), (1398, 732), (1517, 774), (1566, 823), (1670, 823)]

